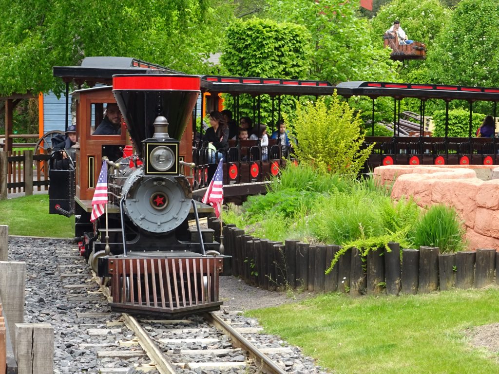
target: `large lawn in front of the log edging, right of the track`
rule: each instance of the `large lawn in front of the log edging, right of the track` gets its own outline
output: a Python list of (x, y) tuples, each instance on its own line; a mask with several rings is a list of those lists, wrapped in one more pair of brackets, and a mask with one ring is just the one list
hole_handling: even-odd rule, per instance
[(465, 331), (499, 322), (499, 289), (361, 297), (333, 293), (250, 311), (335, 374), (491, 374), (498, 354), (467, 343)]

